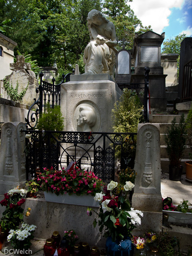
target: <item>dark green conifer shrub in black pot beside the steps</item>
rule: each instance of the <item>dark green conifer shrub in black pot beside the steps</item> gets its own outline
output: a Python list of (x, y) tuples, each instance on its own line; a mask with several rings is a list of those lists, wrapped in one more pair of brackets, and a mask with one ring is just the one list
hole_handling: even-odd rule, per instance
[(184, 114), (181, 115), (179, 124), (176, 124), (176, 117), (171, 121), (165, 135), (166, 150), (169, 156), (169, 179), (180, 180), (182, 175), (181, 158), (185, 150), (186, 124)]

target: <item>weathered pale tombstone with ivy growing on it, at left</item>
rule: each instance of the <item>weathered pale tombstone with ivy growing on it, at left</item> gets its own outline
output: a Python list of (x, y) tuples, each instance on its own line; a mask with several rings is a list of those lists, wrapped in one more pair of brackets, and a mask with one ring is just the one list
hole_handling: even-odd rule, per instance
[[(28, 85), (26, 94), (23, 96), (23, 104), (31, 105), (34, 102), (34, 98), (37, 99), (36, 88), (38, 87), (38, 80), (35, 73), (31, 70), (31, 64), (25, 63), (25, 57), (23, 55), (16, 56), (16, 63), (10, 64), (10, 69), (13, 70), (9, 76), (5, 79), (12, 84), (13, 88), (18, 86), (18, 94), (23, 91)], [(10, 99), (7, 92), (4, 90), (4, 98)]]

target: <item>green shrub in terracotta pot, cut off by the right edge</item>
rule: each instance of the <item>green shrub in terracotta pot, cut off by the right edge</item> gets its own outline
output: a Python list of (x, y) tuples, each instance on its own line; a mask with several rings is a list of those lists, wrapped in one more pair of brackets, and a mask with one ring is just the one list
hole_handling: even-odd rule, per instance
[[(192, 107), (188, 112), (186, 119), (187, 143), (192, 151)], [(190, 161), (185, 162), (186, 179), (192, 181), (192, 153), (189, 153)]]

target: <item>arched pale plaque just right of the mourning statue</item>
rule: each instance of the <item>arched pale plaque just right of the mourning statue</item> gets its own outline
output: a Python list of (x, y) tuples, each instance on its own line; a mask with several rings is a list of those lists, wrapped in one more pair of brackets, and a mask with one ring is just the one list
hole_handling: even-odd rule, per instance
[(118, 54), (118, 74), (130, 74), (129, 53), (127, 51), (120, 51)]

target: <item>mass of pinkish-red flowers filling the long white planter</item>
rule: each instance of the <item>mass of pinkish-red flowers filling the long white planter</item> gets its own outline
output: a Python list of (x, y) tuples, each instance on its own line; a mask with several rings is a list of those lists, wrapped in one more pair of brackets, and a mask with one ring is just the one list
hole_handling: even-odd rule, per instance
[(41, 181), (41, 189), (51, 191), (56, 195), (69, 193), (72, 195), (91, 194), (95, 195), (101, 191), (104, 183), (93, 172), (80, 170), (78, 167), (61, 171), (53, 168), (46, 169), (38, 176), (37, 181)]

